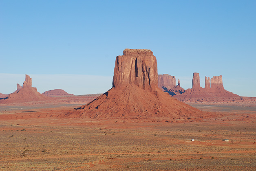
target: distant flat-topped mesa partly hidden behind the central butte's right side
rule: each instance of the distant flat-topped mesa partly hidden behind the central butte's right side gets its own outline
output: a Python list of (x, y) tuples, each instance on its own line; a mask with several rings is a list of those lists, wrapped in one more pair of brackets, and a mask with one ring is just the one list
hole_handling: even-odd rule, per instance
[(158, 87), (162, 90), (171, 89), (175, 87), (176, 79), (175, 76), (168, 74), (158, 75)]

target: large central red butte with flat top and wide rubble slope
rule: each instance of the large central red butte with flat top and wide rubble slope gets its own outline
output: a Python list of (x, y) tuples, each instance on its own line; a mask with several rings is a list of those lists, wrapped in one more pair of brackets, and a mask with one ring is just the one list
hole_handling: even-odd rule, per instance
[(123, 54), (116, 57), (113, 87), (64, 117), (175, 118), (205, 114), (157, 87), (157, 59), (151, 50), (125, 49)]

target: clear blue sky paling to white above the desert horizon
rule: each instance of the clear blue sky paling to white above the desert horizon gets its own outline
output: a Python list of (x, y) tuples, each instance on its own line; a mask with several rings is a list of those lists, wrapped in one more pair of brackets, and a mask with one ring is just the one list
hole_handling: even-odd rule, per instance
[(103, 93), (125, 48), (151, 49), (185, 89), (199, 72), (256, 96), (255, 0), (0, 0), (1, 93), (25, 74), (41, 93)]

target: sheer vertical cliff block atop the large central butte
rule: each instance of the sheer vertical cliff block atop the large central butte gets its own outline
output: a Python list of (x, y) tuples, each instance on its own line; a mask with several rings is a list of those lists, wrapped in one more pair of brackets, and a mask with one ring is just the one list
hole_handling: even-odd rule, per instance
[(113, 88), (135, 84), (144, 90), (157, 87), (157, 59), (151, 50), (125, 49), (115, 61)]

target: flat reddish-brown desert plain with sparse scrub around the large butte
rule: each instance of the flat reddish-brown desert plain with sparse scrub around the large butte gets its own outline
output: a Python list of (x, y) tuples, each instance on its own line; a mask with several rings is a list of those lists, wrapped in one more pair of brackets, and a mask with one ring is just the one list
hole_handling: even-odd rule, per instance
[(0, 106), (0, 170), (256, 170), (253, 107), (201, 105), (217, 117), (172, 122), (56, 118), (74, 107)]

